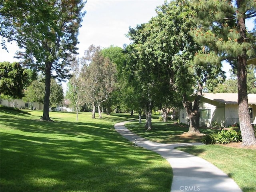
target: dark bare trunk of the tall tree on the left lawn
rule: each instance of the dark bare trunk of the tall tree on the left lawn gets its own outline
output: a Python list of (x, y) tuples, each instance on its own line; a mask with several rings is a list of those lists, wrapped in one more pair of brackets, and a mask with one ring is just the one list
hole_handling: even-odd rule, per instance
[(51, 67), (52, 64), (46, 64), (45, 70), (45, 90), (44, 90), (44, 112), (42, 120), (51, 121), (49, 116), (49, 104), (50, 104), (50, 86), (51, 86)]

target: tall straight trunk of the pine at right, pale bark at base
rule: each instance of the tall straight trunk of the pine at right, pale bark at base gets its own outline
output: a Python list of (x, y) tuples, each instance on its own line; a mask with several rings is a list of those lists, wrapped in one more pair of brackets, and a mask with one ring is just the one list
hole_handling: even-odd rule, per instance
[[(242, 7), (244, 2), (237, 1), (238, 8)], [(239, 43), (242, 44), (246, 39), (245, 14), (238, 18), (238, 30), (241, 38)], [(238, 116), (244, 146), (256, 145), (256, 138), (252, 124), (250, 123), (250, 115), (248, 110), (247, 95), (247, 74), (246, 74), (246, 50), (243, 50), (241, 56), (238, 56), (237, 78), (238, 78)]]

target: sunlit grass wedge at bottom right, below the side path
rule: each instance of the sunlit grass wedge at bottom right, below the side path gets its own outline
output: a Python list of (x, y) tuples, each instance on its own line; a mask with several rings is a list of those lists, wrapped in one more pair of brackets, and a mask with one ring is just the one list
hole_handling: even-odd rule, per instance
[(203, 145), (178, 147), (201, 157), (228, 174), (243, 192), (256, 191), (256, 150), (226, 147), (223, 145)]

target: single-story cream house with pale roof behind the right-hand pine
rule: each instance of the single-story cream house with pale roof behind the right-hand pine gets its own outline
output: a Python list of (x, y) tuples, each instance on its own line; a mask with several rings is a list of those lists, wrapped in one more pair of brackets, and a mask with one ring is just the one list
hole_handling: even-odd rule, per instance
[[(250, 121), (256, 124), (256, 94), (248, 94)], [(200, 126), (211, 126), (211, 122), (228, 127), (239, 123), (237, 93), (203, 93), (200, 100)], [(179, 109), (179, 122), (189, 124), (184, 108)]]

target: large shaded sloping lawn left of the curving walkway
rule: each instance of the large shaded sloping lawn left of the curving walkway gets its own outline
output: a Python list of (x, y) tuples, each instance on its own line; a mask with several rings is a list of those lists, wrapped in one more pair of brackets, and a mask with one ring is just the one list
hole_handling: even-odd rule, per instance
[[(30, 111), (28, 111), (30, 112)], [(169, 192), (170, 164), (120, 136), (114, 124), (129, 115), (50, 112), (53, 122), (1, 109), (3, 192)]]

